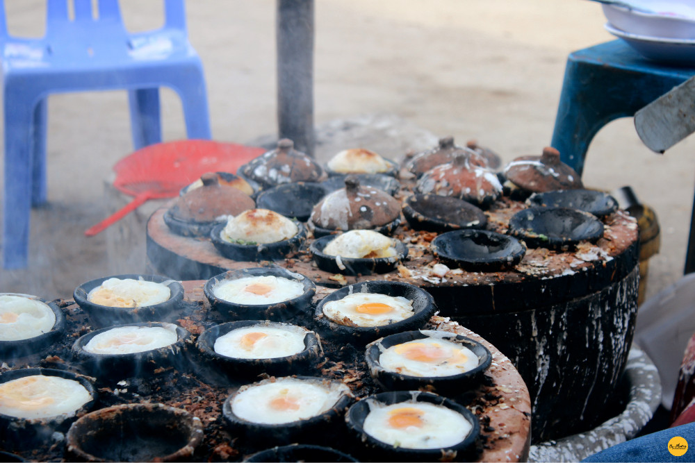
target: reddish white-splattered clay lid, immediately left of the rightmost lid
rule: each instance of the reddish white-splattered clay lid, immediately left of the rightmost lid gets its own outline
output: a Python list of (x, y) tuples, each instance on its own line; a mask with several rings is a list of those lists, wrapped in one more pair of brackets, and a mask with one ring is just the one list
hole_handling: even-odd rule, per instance
[(471, 165), (464, 153), (454, 160), (425, 172), (415, 190), (422, 194), (455, 196), (475, 205), (486, 206), (502, 196), (502, 184), (490, 169)]

